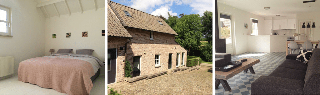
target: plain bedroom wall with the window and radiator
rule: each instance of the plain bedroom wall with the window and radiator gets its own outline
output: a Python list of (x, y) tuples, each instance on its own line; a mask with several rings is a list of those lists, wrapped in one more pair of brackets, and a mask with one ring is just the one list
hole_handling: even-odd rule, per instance
[(44, 56), (45, 18), (41, 10), (35, 7), (35, 0), (0, 0), (0, 5), (11, 8), (13, 36), (0, 36), (0, 57), (14, 56), (13, 75), (18, 75), (21, 61)]

